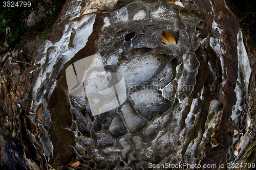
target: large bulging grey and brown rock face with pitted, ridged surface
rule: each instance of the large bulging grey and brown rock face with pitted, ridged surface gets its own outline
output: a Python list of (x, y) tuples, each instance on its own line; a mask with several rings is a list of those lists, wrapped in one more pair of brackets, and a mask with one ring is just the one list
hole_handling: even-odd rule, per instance
[[(176, 44), (162, 43), (163, 31)], [(86, 94), (70, 95), (65, 74), (94, 54), (123, 75), (127, 92), (96, 116)], [(27, 134), (55, 169), (72, 159), (96, 169), (226, 163), (242, 156), (242, 147), (233, 154), (242, 134), (245, 147), (253, 135), (243, 122), (251, 68), (224, 1), (68, 1), (34, 65), (36, 114), (26, 118), (36, 128)]]

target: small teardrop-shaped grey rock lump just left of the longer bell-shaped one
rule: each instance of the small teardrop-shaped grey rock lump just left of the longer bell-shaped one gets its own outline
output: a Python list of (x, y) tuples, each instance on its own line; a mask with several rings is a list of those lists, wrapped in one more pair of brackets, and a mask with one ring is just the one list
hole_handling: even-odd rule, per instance
[(110, 133), (114, 136), (121, 136), (122, 134), (124, 134), (123, 123), (118, 115), (113, 118), (109, 130)]

